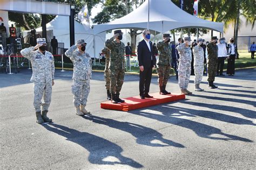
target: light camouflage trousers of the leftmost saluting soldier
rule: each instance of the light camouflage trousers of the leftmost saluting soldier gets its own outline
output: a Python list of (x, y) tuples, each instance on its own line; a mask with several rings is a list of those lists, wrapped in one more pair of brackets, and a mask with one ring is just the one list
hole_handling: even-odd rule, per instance
[[(41, 106), (43, 110), (48, 110), (51, 103), (52, 94), (52, 82), (48, 83), (38, 83), (34, 82), (34, 101), (33, 105), (36, 111), (41, 111)], [(43, 103), (42, 103), (43, 98)]]

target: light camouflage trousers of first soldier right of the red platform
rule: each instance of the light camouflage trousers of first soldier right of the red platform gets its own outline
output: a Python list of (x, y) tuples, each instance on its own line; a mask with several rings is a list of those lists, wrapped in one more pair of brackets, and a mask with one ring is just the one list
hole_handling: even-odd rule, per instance
[(182, 65), (180, 63), (179, 68), (179, 88), (181, 90), (187, 89), (188, 83), (190, 82), (191, 65)]

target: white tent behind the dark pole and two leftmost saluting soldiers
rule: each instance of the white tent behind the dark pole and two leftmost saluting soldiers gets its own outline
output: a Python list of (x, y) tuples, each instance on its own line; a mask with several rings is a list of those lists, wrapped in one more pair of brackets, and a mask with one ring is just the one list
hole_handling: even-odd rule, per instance
[[(52, 38), (52, 36), (55, 36), (58, 42), (64, 42), (65, 48), (70, 47), (70, 31), (68, 16), (56, 16), (50, 23), (46, 24), (46, 30), (48, 42)], [(23, 31), (23, 37), (28, 36), (28, 32), (30, 31)], [(36, 32), (42, 32), (42, 27), (37, 28)], [(84, 39), (87, 43), (86, 51), (91, 55), (91, 57), (99, 58), (98, 54), (101, 53), (102, 48), (105, 44), (105, 36), (105, 32), (102, 32), (95, 36), (91, 28), (85, 30), (82, 24), (75, 21), (75, 41), (78, 39)], [(94, 40), (96, 46), (95, 51)]]

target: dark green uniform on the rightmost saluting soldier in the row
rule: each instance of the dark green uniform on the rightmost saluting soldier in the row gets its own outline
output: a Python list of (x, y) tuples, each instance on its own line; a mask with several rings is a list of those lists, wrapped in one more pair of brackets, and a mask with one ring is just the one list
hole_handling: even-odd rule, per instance
[(218, 66), (218, 46), (214, 45), (214, 42), (207, 44), (207, 67), (208, 67), (208, 79), (207, 81), (214, 81), (217, 73)]

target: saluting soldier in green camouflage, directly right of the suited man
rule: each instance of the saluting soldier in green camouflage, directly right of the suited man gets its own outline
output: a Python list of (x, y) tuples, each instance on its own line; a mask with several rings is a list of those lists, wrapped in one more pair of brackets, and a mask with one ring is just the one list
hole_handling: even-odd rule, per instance
[(164, 40), (157, 43), (157, 49), (159, 51), (157, 73), (160, 88), (159, 94), (161, 95), (171, 94), (165, 90), (172, 65), (172, 47), (169, 45), (170, 37), (170, 34), (163, 34)]

